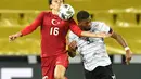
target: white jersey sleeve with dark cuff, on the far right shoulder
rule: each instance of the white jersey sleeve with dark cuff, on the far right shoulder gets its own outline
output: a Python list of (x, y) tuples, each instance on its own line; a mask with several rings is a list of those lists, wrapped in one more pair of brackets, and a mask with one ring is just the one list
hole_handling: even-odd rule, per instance
[(104, 31), (106, 34), (112, 34), (113, 30), (110, 26), (107, 26), (106, 24), (104, 23), (99, 23), (99, 28), (98, 28), (100, 31)]

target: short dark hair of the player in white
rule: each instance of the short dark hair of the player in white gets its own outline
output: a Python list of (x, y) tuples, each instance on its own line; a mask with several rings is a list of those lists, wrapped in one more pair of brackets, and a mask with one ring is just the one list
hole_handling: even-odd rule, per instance
[(90, 14), (87, 11), (79, 11), (77, 13), (77, 21), (84, 21), (84, 19), (88, 19), (90, 17)]

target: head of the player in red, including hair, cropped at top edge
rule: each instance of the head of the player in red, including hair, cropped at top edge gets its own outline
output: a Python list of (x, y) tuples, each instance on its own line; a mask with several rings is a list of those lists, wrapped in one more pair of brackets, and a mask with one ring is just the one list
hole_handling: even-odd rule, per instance
[(59, 10), (61, 4), (64, 3), (64, 0), (49, 0), (50, 9)]

